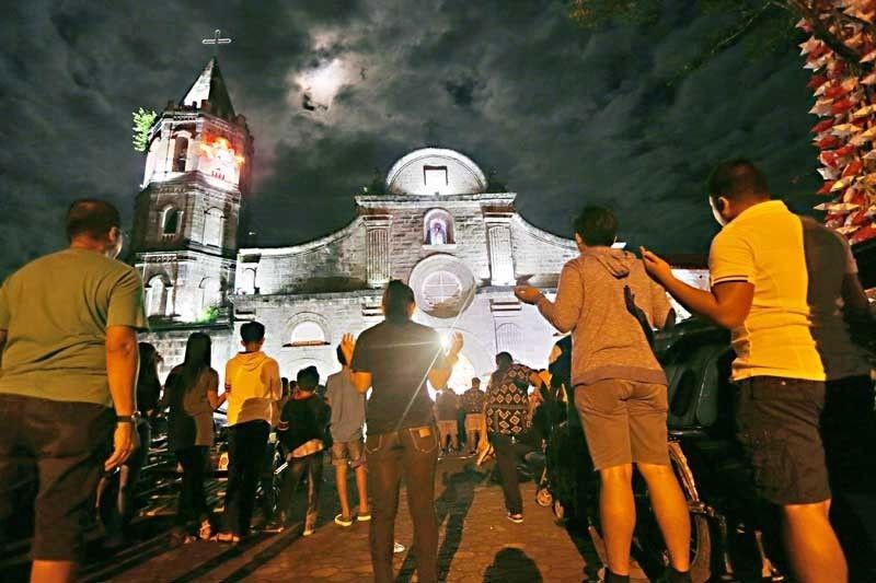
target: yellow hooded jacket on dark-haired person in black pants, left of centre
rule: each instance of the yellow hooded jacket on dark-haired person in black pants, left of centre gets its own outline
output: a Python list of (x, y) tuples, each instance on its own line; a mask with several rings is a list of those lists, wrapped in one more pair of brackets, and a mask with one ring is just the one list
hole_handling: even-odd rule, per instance
[(228, 424), (272, 420), (274, 403), (280, 399), (280, 370), (264, 352), (239, 352), (226, 365)]

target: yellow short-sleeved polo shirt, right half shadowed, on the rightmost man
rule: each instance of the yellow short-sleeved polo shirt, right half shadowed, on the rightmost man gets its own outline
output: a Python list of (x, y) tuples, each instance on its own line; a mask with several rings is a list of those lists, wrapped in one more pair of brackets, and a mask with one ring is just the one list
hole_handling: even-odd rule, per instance
[(726, 225), (712, 242), (712, 285), (754, 285), (751, 311), (733, 330), (733, 378), (826, 381), (866, 374), (842, 318), (842, 279), (857, 268), (839, 234), (770, 200)]

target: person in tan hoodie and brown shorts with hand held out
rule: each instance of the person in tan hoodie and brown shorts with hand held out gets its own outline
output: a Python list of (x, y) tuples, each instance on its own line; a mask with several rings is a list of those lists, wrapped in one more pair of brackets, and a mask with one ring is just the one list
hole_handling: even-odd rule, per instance
[(515, 293), (557, 330), (572, 331), (575, 405), (602, 486), (606, 581), (630, 579), (633, 464), (648, 485), (669, 550), (667, 581), (690, 581), (690, 516), (669, 463), (667, 380), (645, 329), (666, 326), (672, 311), (642, 261), (612, 248), (616, 230), (609, 209), (585, 208), (575, 220), (580, 256), (563, 267), (555, 301), (528, 285)]

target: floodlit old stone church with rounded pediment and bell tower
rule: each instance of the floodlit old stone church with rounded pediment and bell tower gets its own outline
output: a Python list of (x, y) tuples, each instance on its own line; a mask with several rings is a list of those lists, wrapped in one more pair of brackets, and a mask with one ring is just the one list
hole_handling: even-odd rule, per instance
[(446, 338), (463, 335), (450, 382), (458, 390), (492, 372), (503, 350), (546, 366), (555, 330), (512, 288), (527, 281), (550, 296), (577, 255), (575, 243), (528, 223), (516, 194), (491, 188), (470, 158), (415, 150), (392, 166), (382, 193), (355, 197), (356, 215), (344, 229), (298, 245), (240, 248), (252, 155), (246, 120), (211, 59), (157, 118), (136, 203), (134, 263), (163, 372), (182, 361), (186, 337), (199, 329), (212, 337), (221, 373), (239, 348), (241, 324), (257, 319), (267, 327), (265, 351), (285, 376), (315, 364), (325, 378), (339, 368), (342, 335), (382, 319), (390, 279), (414, 289), (417, 322)]

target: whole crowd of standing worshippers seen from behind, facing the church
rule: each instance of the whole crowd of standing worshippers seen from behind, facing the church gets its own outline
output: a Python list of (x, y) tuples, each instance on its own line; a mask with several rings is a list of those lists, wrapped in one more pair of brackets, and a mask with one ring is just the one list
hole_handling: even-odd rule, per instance
[[(383, 293), (383, 322), (358, 338), (344, 335), (341, 371), (324, 390), (315, 368), (298, 371), (293, 383), (281, 378), (277, 361), (263, 351), (265, 327), (247, 322), (240, 327), (242, 350), (224, 365), (223, 390), (210, 337), (195, 333), (162, 395), (161, 357), (151, 345), (138, 345), (137, 333), (148, 328), (140, 277), (115, 260), (123, 241), (119, 214), (104, 201), (76, 201), (67, 215), (69, 248), (27, 264), (0, 288), (0, 518), (13, 511), (21, 467), (35, 467), (32, 579), (72, 581), (83, 550), (83, 517), (102, 475), (124, 468), (119, 520), (107, 525), (108, 538), (117, 538), (132, 516), (132, 489), (150, 440), (147, 420), (166, 410), (169, 447), (182, 468), (176, 543), (245, 538), (266, 458), (276, 451), (287, 467), (266, 528), (289, 527), (297, 513), (292, 493), (306, 479), (309, 536), (330, 455), (339, 504), (334, 523), (369, 524), (376, 581), (393, 581), (404, 478), (418, 580), (433, 582), (439, 454), (459, 451), (463, 438), (470, 453), (494, 454), (506, 516), (522, 523), (518, 464), (543, 459), (532, 454), (565, 416), (557, 404), (567, 400), (574, 405), (569, 421), (584, 431), (601, 483), (604, 581), (629, 581), (634, 467), (668, 549), (666, 581), (691, 581), (689, 509), (668, 456), (668, 382), (650, 346), (653, 329), (675, 318), (668, 292), (731, 330), (738, 438), (760, 495), (782, 510), (796, 580), (845, 581), (843, 549), (828, 515), (830, 445), (872, 456), (864, 445), (874, 423), (871, 369), (853, 334), (872, 331), (873, 316), (855, 261), (840, 235), (773, 200), (764, 176), (748, 161), (714, 171), (708, 202), (723, 226), (711, 248), (710, 290), (676, 279), (650, 250), (641, 249), (639, 258), (614, 248), (614, 214), (585, 208), (574, 224), (580, 254), (564, 266), (555, 298), (527, 285), (515, 289), (521, 302), (569, 334), (556, 348), (570, 351), (563, 375), (568, 381), (557, 384), (557, 375), (500, 352), (487, 389), (473, 378), (458, 396), (447, 384), (462, 336), (453, 335), (445, 348), (435, 329), (415, 323), (414, 293), (399, 280)], [(427, 386), (439, 392), (435, 403)], [(204, 485), (216, 440), (214, 411), (223, 403), (228, 483), (222, 521), (215, 524)], [(838, 420), (829, 411), (850, 418)], [(533, 476), (541, 476), (539, 468)]]

